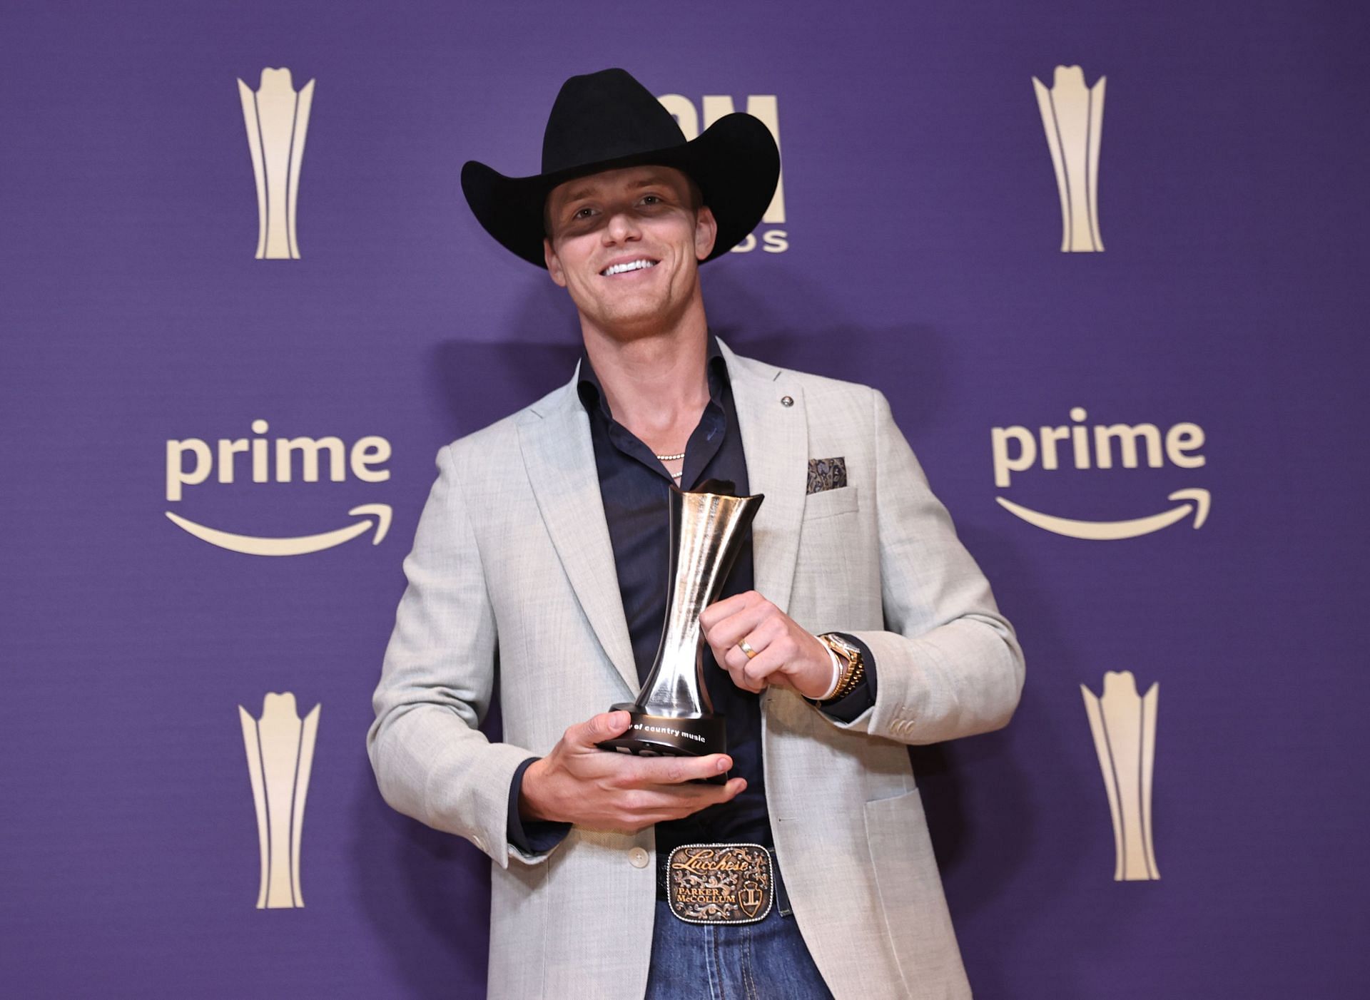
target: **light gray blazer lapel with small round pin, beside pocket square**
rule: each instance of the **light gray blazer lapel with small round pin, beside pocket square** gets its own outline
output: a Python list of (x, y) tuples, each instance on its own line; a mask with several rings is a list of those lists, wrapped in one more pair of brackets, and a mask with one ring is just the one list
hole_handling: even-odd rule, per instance
[(786, 371), (741, 359), (722, 341), (718, 345), (743, 429), (747, 481), (752, 493), (766, 495), (752, 522), (756, 592), (788, 612), (808, 482), (804, 393)]

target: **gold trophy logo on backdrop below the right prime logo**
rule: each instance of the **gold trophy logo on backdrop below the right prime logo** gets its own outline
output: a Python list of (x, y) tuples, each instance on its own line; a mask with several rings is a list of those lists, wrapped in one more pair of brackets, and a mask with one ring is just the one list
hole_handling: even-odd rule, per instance
[(1156, 703), (1160, 684), (1137, 693), (1130, 670), (1104, 674), (1103, 695), (1080, 685), (1095, 736), (1095, 753), (1108, 793), (1114, 825), (1114, 881), (1160, 878), (1151, 838), (1151, 782), (1156, 756)]

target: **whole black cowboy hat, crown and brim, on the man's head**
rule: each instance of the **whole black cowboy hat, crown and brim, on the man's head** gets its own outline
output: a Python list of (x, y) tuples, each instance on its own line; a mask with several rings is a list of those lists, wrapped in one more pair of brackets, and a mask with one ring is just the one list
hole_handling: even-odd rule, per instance
[(543, 259), (543, 207), (552, 188), (601, 170), (675, 167), (693, 178), (718, 221), (707, 260), (736, 247), (762, 221), (780, 179), (780, 149), (760, 119), (733, 112), (685, 141), (671, 112), (623, 70), (571, 77), (543, 133), (543, 173), (504, 177), (462, 167), (462, 192), (485, 232), (529, 263)]

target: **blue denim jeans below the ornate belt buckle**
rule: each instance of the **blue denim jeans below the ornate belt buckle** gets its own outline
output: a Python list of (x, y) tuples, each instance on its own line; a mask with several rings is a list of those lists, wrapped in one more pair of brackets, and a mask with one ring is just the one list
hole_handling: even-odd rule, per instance
[(652, 970), (645, 1000), (832, 1000), (795, 916), (773, 908), (764, 921), (685, 923), (656, 903)]

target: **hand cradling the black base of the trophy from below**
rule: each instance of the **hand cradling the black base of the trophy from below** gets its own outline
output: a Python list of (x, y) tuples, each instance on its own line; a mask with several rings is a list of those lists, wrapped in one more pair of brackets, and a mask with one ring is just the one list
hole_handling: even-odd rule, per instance
[(627, 712), (603, 712), (567, 729), (551, 753), (523, 771), (519, 815), (637, 833), (726, 803), (747, 788), (744, 778), (730, 778), (726, 785), (689, 784), (730, 768), (733, 759), (726, 753), (640, 758), (595, 745), (622, 736), (629, 722)]

